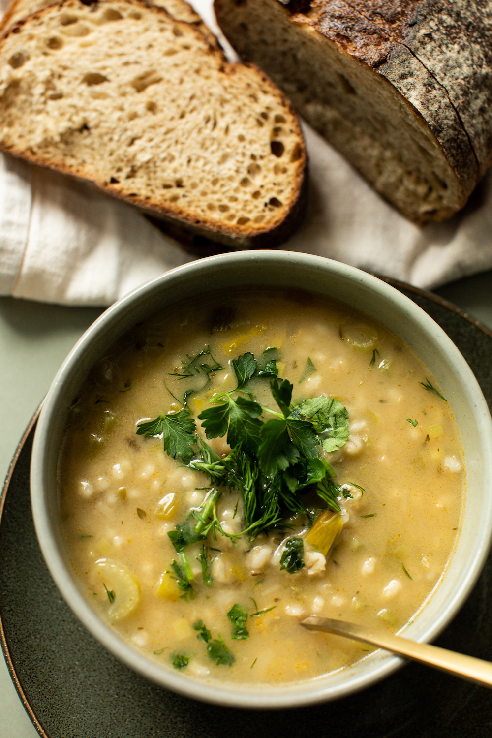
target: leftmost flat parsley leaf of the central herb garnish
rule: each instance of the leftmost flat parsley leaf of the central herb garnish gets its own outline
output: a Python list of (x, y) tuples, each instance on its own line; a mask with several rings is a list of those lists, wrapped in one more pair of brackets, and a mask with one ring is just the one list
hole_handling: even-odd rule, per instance
[(159, 415), (154, 420), (139, 423), (137, 429), (136, 435), (145, 435), (145, 438), (162, 434), (164, 451), (173, 459), (181, 456), (183, 463), (188, 463), (192, 458), (196, 428), (195, 421), (187, 410)]

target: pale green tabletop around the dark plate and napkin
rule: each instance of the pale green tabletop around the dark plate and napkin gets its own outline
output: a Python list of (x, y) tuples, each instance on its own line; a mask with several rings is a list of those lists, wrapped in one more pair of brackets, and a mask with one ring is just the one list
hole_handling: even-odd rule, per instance
[[(492, 328), (491, 287), (492, 272), (484, 272), (436, 292)], [(100, 312), (97, 308), (64, 308), (0, 297), (2, 479), (7, 474), (19, 438), (61, 362)], [(0, 657), (0, 738), (35, 738), (37, 735)]]

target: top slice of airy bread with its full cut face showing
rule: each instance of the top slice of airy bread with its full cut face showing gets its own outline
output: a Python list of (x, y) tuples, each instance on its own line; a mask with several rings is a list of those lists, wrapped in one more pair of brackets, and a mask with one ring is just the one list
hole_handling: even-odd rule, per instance
[[(176, 2), (177, 0), (173, 0)], [(302, 215), (305, 145), (284, 95), (140, 0), (79, 0), (0, 40), (0, 148), (93, 182), (175, 235), (273, 246)]]

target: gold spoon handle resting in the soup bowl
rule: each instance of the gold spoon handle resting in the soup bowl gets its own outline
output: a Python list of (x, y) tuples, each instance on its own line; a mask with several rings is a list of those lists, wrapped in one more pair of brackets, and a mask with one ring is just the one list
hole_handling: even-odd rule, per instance
[(482, 661), (481, 658), (465, 656), (461, 653), (439, 648), (439, 646), (418, 644), (416, 641), (409, 641), (408, 638), (401, 638), (399, 635), (391, 635), (364, 625), (347, 623), (344, 620), (319, 618), (318, 615), (305, 618), (301, 621), (301, 625), (308, 628), (308, 630), (322, 630), (336, 635), (344, 635), (346, 638), (353, 638), (371, 646), (379, 646), (405, 658), (421, 661), (428, 666), (433, 666), (434, 669), (440, 669), (442, 672), (454, 674), (462, 679), (492, 689), (492, 663)]

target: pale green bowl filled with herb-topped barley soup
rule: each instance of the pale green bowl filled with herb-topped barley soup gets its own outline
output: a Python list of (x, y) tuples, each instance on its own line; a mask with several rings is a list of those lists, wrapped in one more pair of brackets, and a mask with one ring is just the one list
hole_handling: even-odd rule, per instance
[(488, 407), (441, 328), (311, 255), (195, 261), (111, 306), (49, 390), (32, 510), (63, 598), (167, 689), (336, 699), (401, 666), (319, 614), (430, 641), (491, 540)]

